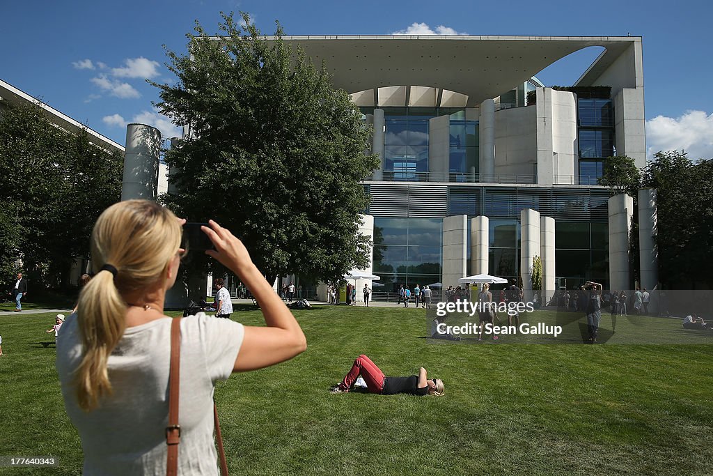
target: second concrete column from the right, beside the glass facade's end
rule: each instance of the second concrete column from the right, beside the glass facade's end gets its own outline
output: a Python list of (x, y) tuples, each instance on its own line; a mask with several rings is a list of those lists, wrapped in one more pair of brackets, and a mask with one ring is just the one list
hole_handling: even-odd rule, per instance
[(631, 288), (629, 230), (634, 216), (634, 199), (626, 194), (609, 198), (609, 288)]

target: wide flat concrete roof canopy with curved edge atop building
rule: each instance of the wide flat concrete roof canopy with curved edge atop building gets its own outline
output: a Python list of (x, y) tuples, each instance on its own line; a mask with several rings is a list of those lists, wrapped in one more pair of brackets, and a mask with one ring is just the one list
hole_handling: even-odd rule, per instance
[[(315, 64), (324, 62), (334, 86), (348, 93), (384, 86), (422, 86), (467, 96), (478, 106), (522, 84), (550, 64), (588, 46), (605, 51), (578, 81), (597, 79), (638, 36), (283, 36)], [(636, 74), (627, 82), (636, 87)], [(413, 91), (411, 91), (413, 92)], [(429, 91), (426, 91), (426, 94)], [(379, 91), (381, 94), (381, 91)], [(380, 101), (379, 101), (380, 102)], [(458, 101), (462, 102), (462, 101)]]

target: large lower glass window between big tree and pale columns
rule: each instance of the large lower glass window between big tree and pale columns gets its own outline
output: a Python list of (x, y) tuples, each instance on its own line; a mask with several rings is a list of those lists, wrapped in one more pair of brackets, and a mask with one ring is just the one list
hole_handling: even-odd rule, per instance
[(441, 218), (374, 218), (374, 274), (380, 291), (441, 282)]

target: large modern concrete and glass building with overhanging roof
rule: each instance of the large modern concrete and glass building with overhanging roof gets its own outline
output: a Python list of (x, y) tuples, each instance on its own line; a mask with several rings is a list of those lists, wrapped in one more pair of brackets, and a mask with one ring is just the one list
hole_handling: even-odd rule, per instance
[[(585, 280), (628, 287), (627, 265), (610, 275), (610, 256), (624, 259), (616, 220), (632, 210), (619, 200), (610, 211), (597, 177), (608, 156), (645, 165), (640, 37), (283, 39), (324, 62), (374, 130), (381, 167), (365, 186), (379, 290), (447, 287), (476, 273), (521, 278), (527, 289), (535, 256), (548, 290)], [(535, 77), (592, 46), (602, 52), (571, 88)], [(644, 253), (655, 261), (652, 246)]]

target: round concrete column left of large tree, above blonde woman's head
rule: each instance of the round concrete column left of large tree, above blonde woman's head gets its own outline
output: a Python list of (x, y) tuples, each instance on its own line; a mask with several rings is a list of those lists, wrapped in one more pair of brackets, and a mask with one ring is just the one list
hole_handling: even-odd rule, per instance
[(157, 128), (144, 124), (126, 126), (122, 201), (132, 198), (156, 199), (160, 148), (161, 133)]

